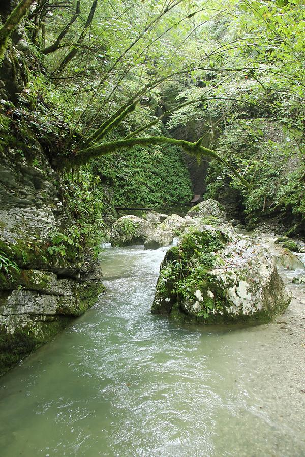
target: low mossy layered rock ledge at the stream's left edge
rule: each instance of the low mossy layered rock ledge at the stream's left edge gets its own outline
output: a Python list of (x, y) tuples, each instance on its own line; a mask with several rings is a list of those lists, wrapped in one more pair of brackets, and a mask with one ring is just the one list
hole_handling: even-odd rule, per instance
[[(31, 280), (26, 281), (27, 286), (32, 284), (33, 288), (38, 287), (40, 291), (44, 287), (45, 291), (63, 293), (63, 295), (15, 289), (13, 294), (15, 294), (17, 306), (14, 308), (11, 305), (13, 314), (8, 314), (10, 308), (6, 305), (12, 292), (2, 292), (0, 296), (0, 310), (2, 313), (5, 312), (5, 314), (0, 314), (0, 375), (39, 346), (53, 339), (73, 318), (82, 315), (92, 307), (96, 303), (98, 295), (105, 290), (99, 280), (88, 280), (80, 284), (72, 280), (59, 280), (56, 284), (54, 278), (50, 278), (50, 275), (52, 276), (50, 272), (42, 272), (42, 275), (44, 274), (50, 279), (49, 284), (36, 280), (31, 282), (33, 278), (41, 280), (42, 276), (39, 272), (30, 271)], [(64, 286), (67, 287), (66, 290), (63, 290)], [(67, 294), (67, 292), (69, 293)], [(18, 314), (18, 308), (22, 308), (22, 304), (18, 307), (18, 297), (22, 299), (22, 296), (29, 314), (24, 313), (24, 309), (20, 309), (21, 313)], [(49, 311), (46, 309), (46, 314), (42, 314), (42, 307), (35, 308), (35, 304), (41, 303), (44, 298), (47, 300), (46, 306), (55, 305), (55, 309)], [(31, 300), (34, 300), (32, 309), (29, 306)], [(36, 314), (35, 310), (37, 310)], [(53, 315), (51, 315), (52, 313)]]

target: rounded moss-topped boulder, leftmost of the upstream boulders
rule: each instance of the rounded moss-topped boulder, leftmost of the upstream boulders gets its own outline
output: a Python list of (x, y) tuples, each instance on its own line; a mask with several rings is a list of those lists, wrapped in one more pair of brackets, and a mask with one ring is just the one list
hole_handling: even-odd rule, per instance
[(110, 243), (112, 246), (144, 244), (148, 235), (154, 231), (154, 225), (137, 216), (123, 216), (112, 224)]

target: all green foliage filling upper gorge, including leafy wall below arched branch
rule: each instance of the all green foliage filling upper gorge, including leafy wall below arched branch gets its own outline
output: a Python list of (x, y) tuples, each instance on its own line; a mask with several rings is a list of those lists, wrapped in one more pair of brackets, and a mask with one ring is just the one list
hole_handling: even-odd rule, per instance
[[(216, 160), (207, 177), (210, 195), (225, 181), (247, 214), (303, 218), (301, 0), (18, 5), (11, 16), (10, 5), (0, 9), (3, 67), (15, 62), (14, 83), (0, 72), (4, 113), (15, 123), (16, 115), (26, 117), (73, 185), (79, 177), (80, 188), (111, 183), (119, 205), (187, 201), (177, 145)], [(18, 26), (8, 34), (17, 13)], [(197, 143), (169, 138), (162, 122), (169, 132), (192, 125)], [(105, 154), (112, 156), (98, 159)]]

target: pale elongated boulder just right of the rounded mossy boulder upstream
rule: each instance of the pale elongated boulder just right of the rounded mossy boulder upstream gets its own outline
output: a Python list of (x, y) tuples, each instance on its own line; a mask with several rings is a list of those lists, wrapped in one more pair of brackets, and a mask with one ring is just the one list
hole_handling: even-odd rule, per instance
[(172, 244), (175, 236), (179, 235), (187, 225), (187, 221), (172, 214), (164, 222), (156, 227), (154, 232), (150, 233), (144, 242), (145, 249), (158, 249), (163, 246)]

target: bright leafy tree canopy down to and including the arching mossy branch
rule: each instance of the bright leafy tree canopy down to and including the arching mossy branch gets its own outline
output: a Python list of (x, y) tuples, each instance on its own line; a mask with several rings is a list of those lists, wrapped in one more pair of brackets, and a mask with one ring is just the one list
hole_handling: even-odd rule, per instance
[[(0, 45), (4, 52), (25, 17), (44, 71), (33, 69), (21, 97), (54, 106), (63, 124), (57, 162), (171, 143), (220, 160), (249, 186), (249, 158), (231, 160), (216, 138), (232, 115), (261, 116), (303, 154), (303, 16), (300, 0), (22, 0), (3, 15)], [(198, 119), (196, 142), (162, 132)]]

